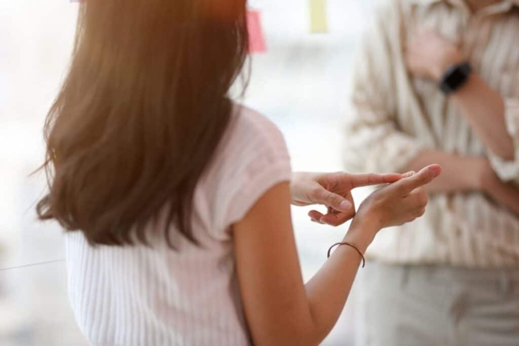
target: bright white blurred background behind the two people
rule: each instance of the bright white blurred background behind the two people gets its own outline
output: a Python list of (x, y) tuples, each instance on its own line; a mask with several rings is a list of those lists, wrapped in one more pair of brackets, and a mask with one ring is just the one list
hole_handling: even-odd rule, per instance
[[(352, 60), (372, 3), (328, 0), (327, 32), (311, 33), (308, 0), (249, 1), (261, 12), (267, 51), (252, 56), (243, 102), (278, 124), (294, 170), (342, 169)], [(36, 221), (34, 203), (45, 191), (45, 176), (30, 176), (43, 161), (43, 121), (66, 72), (77, 9), (68, 0), (0, 0), (2, 346), (87, 345), (67, 297), (61, 230)], [(365, 195), (356, 191), (357, 204)], [(308, 210), (293, 209), (305, 280), (347, 229), (311, 223)], [(353, 345), (358, 289), (323, 345)]]

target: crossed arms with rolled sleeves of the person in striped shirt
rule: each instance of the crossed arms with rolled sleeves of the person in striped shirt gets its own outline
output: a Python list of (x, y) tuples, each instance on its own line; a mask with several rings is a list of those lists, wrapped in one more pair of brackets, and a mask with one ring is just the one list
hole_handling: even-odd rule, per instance
[(428, 185), (428, 192), (481, 191), (519, 213), (519, 100), (503, 100), (475, 73), (449, 95), (488, 148), (488, 157), (428, 148), (400, 131), (393, 116), (398, 112), (399, 96), (394, 92), (394, 66), (403, 63), (410, 74), (438, 81), (447, 66), (464, 58), (445, 38), (421, 31), (406, 44), (401, 61), (394, 53), (400, 47), (387, 49), (398, 44), (388, 34), (397, 25), (392, 19), (379, 13), (362, 40), (353, 83), (354, 114), (346, 135), (347, 163), (356, 170), (374, 172), (416, 171), (428, 163), (439, 163), (444, 172)]

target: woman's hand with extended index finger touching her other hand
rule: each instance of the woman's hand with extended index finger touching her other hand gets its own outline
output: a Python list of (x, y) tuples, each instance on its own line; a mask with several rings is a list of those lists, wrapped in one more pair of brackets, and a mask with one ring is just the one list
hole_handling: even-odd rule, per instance
[(355, 216), (352, 189), (394, 183), (401, 178), (402, 175), (397, 173), (294, 172), (290, 183), (292, 204), (298, 206), (324, 204), (327, 207), (326, 214), (312, 210), (308, 216), (312, 221), (320, 224), (339, 226)]

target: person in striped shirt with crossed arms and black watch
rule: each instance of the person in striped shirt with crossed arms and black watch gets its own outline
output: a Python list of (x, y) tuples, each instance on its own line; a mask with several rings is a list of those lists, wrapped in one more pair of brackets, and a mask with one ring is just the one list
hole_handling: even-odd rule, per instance
[(352, 171), (442, 164), (367, 255), (359, 345), (519, 344), (519, 2), (389, 0), (362, 40)]

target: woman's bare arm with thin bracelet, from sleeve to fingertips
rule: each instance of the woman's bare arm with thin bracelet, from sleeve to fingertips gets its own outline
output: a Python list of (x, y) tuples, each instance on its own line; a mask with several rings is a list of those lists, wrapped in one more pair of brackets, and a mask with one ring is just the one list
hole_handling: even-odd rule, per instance
[[(361, 204), (345, 241), (365, 251), (381, 227), (421, 215), (427, 196), (418, 187), (438, 174), (438, 166), (424, 169), (375, 191)], [(243, 307), (258, 345), (318, 344), (337, 321), (360, 262), (356, 250), (339, 246), (305, 286), (290, 201), (288, 183), (277, 185), (233, 227)]]

